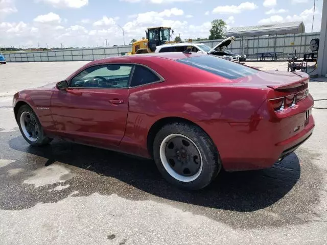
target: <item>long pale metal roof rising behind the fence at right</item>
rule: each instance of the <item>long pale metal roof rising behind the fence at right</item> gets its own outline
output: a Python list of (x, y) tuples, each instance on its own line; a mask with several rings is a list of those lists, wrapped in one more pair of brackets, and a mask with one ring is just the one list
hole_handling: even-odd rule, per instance
[(226, 33), (227, 37), (253, 37), (265, 35), (281, 35), (304, 33), (305, 25), (302, 21), (285, 22), (277, 24), (264, 24), (261, 26), (233, 27)]

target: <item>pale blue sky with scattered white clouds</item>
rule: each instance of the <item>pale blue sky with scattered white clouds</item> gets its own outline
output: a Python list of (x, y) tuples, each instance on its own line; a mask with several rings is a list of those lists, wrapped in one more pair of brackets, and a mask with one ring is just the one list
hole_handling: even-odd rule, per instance
[[(315, 1), (313, 31), (319, 32), (324, 0)], [(0, 0), (0, 46), (122, 45), (122, 29), (128, 44), (154, 26), (172, 27), (173, 38), (207, 38), (211, 21), (220, 18), (227, 29), (302, 20), (311, 32), (313, 5), (314, 0)]]

